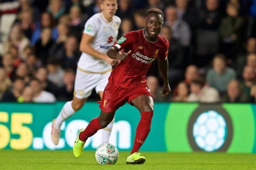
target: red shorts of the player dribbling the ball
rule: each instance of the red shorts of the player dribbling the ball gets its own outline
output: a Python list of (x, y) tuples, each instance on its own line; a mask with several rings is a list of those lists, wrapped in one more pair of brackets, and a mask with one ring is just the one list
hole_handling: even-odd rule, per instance
[(99, 108), (107, 113), (114, 112), (124, 105), (125, 102), (131, 104), (131, 100), (138, 96), (147, 95), (152, 97), (149, 91), (146, 83), (137, 85), (135, 88), (125, 89), (108, 82)]

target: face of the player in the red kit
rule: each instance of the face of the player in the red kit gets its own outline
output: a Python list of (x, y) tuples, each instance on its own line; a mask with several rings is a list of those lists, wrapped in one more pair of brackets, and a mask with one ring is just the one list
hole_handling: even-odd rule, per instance
[(145, 19), (145, 29), (150, 38), (157, 38), (163, 24), (163, 16), (149, 13)]

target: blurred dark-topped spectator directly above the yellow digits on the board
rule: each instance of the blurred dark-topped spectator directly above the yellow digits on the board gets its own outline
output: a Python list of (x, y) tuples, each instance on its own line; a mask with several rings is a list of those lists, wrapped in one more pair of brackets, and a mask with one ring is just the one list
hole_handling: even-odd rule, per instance
[(13, 81), (12, 89), (3, 93), (2, 102), (17, 102), (17, 98), (21, 96), (25, 83), (22, 79), (17, 78)]

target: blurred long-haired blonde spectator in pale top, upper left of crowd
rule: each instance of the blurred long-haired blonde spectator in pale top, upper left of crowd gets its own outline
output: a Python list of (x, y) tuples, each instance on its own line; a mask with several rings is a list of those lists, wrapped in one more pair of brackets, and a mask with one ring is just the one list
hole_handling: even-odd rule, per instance
[(3, 42), (3, 54), (9, 51), (10, 46), (14, 45), (19, 51), (19, 58), (25, 59), (23, 49), (29, 45), (29, 40), (24, 36), (20, 25), (15, 23), (6, 42)]

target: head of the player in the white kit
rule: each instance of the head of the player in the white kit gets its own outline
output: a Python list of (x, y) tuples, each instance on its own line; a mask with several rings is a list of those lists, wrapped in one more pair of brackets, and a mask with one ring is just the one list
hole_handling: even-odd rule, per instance
[(104, 17), (111, 21), (117, 10), (117, 0), (102, 0), (100, 5)]

